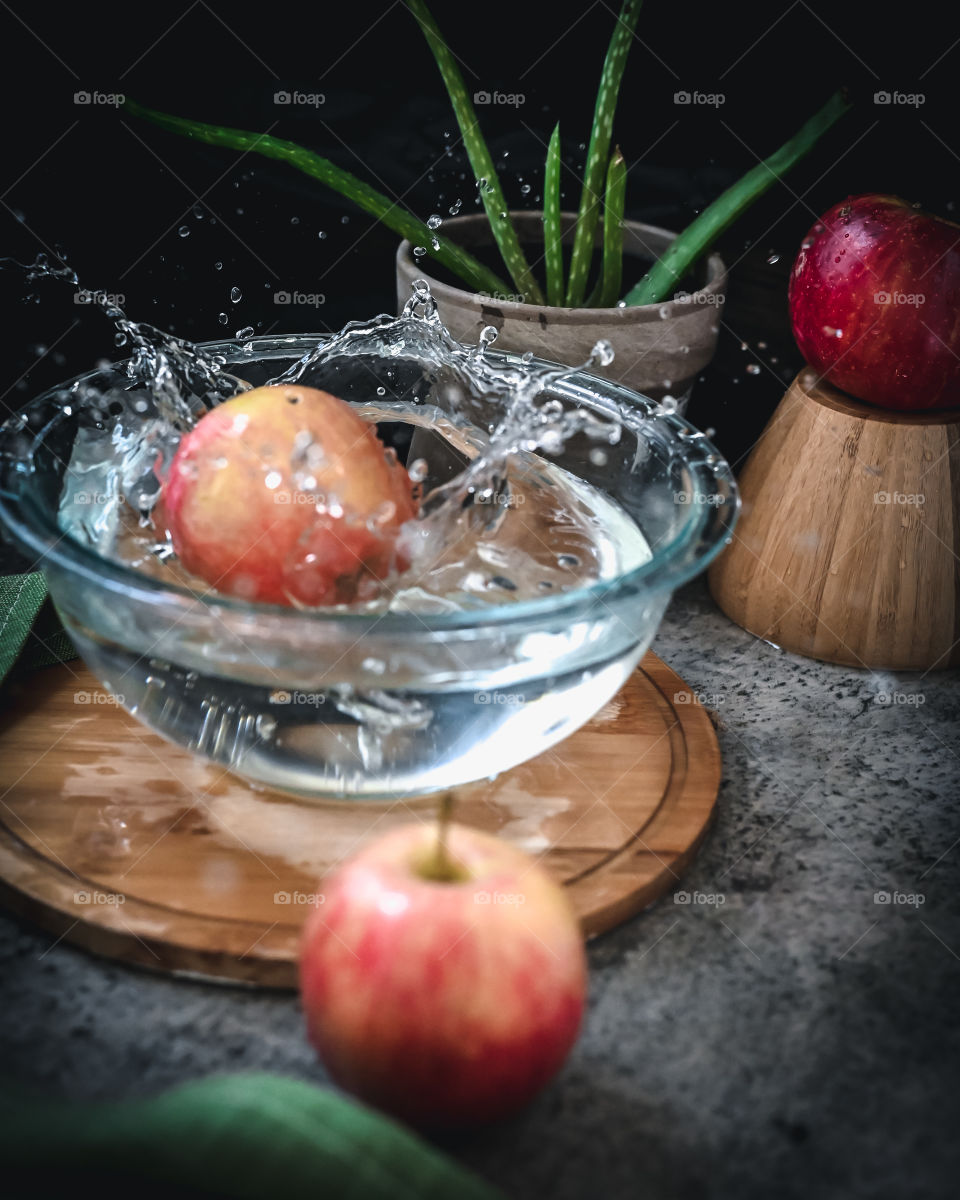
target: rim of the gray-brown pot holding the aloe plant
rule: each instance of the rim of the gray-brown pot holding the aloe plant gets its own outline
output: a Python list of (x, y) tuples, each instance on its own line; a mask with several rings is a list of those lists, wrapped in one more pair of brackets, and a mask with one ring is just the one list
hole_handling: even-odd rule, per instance
[[(539, 229), (541, 216), (542, 214), (539, 209), (515, 209), (510, 211), (510, 218), (521, 227), (530, 226), (535, 222)], [(576, 217), (576, 212), (560, 214), (560, 220), (566, 227), (564, 235), (572, 232)], [(466, 216), (450, 217), (443, 224), (448, 228), (456, 226), (462, 228), (475, 224), (487, 230), (490, 229), (490, 222), (484, 212), (468, 212)], [(629, 229), (632, 233), (652, 234), (666, 241), (667, 245), (677, 236), (670, 229), (664, 229), (661, 226), (647, 224), (643, 221), (628, 220), (623, 222), (623, 226), (624, 229)], [(514, 317), (518, 320), (535, 320), (540, 313), (548, 312), (551, 323), (554, 325), (637, 325), (652, 320), (670, 319), (671, 317), (689, 317), (692, 313), (701, 312), (704, 307), (714, 307), (716, 304), (715, 298), (724, 294), (727, 283), (726, 264), (714, 251), (707, 257), (707, 282), (703, 287), (697, 288), (696, 292), (690, 292), (683, 299), (674, 298), (672, 300), (661, 300), (659, 304), (631, 305), (624, 308), (568, 308), (562, 306), (554, 307), (547, 304), (502, 300), (496, 295), (488, 296), (482, 292), (468, 292), (466, 288), (444, 283), (427, 271), (419, 269), (419, 264), (413, 257), (413, 244), (407, 238), (397, 246), (396, 265), (397, 274), (402, 271), (403, 274), (412, 274), (414, 278), (425, 280), (430, 284), (431, 295), (437, 301), (456, 304), (460, 307), (476, 308), (479, 312), (493, 308), (500, 317)], [(661, 317), (662, 308), (668, 310), (666, 317)]]

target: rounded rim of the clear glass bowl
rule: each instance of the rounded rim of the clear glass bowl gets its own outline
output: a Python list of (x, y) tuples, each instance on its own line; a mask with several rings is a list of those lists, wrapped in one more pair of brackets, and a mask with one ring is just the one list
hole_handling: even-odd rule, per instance
[[(251, 358), (257, 358), (257, 350), (271, 356), (296, 358), (312, 349), (319, 342), (326, 341), (326, 334), (296, 335), (260, 335), (246, 338), (254, 346)], [(220, 340), (198, 343), (204, 350), (224, 355), (227, 366), (236, 368), (242, 364), (240, 342)], [(520, 362), (518, 355), (487, 352), (491, 358), (504, 362)], [(541, 366), (556, 366), (544, 359), (534, 358), (533, 362)], [(122, 366), (122, 364), (115, 364)], [(100, 372), (90, 371), (55, 388), (49, 388), (36, 397), (35, 403), (61, 395), (64, 390), (84, 379), (95, 378)], [(566, 386), (576, 389), (584, 386), (592, 392), (592, 398), (606, 401), (611, 407), (622, 404), (628, 408), (640, 408), (641, 412), (653, 412), (655, 402), (640, 392), (620, 384), (584, 371), (571, 371), (569, 378), (551, 385), (551, 391), (563, 395)], [(568, 397), (574, 398), (574, 397)], [(602, 406), (601, 406), (602, 408)], [(50, 422), (43, 426), (34, 437), (36, 446), (50, 428)], [(30, 472), (17, 475), (18, 491), (0, 488), (0, 518), (7, 528), (37, 553), (37, 566), (43, 570), (48, 563), (70, 572), (91, 580), (108, 590), (130, 596), (138, 594), (144, 601), (157, 601), (161, 598), (172, 600), (191, 600), (209, 606), (211, 610), (229, 610), (238, 613), (270, 613), (276, 618), (289, 620), (323, 620), (344, 623), (358, 634), (364, 628), (377, 625), (380, 632), (422, 632), (430, 630), (462, 630), (470, 626), (491, 624), (529, 623), (532, 619), (556, 619), (564, 614), (571, 618), (596, 602), (610, 604), (628, 595), (640, 595), (662, 590), (673, 590), (682, 583), (698, 575), (728, 540), (740, 508), (737, 484), (733, 472), (716, 448), (685, 418), (678, 413), (658, 418), (658, 432), (670, 437), (682, 448), (680, 456), (695, 479), (695, 486), (702, 484), (701, 494), (719, 496), (720, 503), (691, 504), (690, 515), (678, 533), (662, 547), (658, 547), (653, 557), (623, 575), (602, 580), (584, 588), (554, 593), (534, 600), (515, 604), (491, 605), (482, 608), (466, 610), (456, 613), (425, 612), (344, 612), (325, 608), (296, 608), (284, 605), (268, 605), (221, 593), (197, 593), (190, 588), (166, 583), (109, 559), (102, 558), (90, 547), (74, 541), (66, 535), (56, 523), (55, 514), (49, 514), (43, 506), (31, 503), (34, 499), (26, 492), (26, 480)], [(707, 460), (713, 461), (708, 462)]]

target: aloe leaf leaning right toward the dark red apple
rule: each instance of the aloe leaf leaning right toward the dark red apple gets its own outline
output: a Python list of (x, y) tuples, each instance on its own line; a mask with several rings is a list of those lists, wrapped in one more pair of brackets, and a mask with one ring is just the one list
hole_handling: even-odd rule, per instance
[(769, 158), (757, 163), (743, 179), (728, 187), (670, 244), (649, 274), (624, 298), (628, 305), (659, 304), (677, 287), (696, 262), (710, 248), (757, 197), (800, 161), (820, 138), (850, 108), (842, 91), (834, 92), (820, 112), (785, 142)]

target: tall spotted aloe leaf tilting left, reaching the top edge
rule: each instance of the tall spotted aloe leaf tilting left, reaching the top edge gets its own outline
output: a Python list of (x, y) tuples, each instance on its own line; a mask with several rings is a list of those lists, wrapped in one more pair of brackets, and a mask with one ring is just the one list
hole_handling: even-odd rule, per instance
[(493, 232), (504, 265), (510, 272), (510, 278), (527, 304), (544, 304), (544, 293), (540, 290), (540, 284), (534, 278), (529, 263), (521, 248), (514, 223), (509, 215), (506, 215), (506, 199), (497, 176), (497, 169), (493, 166), (493, 158), (487, 149), (484, 134), (480, 132), (473, 101), (467, 91), (467, 85), (463, 83), (460, 67), (450, 53), (446, 42), (444, 42), (437, 22), (431, 16), (424, 0), (406, 0), (406, 4), (424, 31), (424, 36), (433, 52), (433, 58), (437, 60), (437, 66), (440, 68), (443, 82), (450, 96), (450, 103), (454, 106), (454, 115), (457, 119), (457, 125), (463, 137), (467, 156), (470, 160), (474, 175), (480, 181), (480, 199), (484, 202), (490, 228)]

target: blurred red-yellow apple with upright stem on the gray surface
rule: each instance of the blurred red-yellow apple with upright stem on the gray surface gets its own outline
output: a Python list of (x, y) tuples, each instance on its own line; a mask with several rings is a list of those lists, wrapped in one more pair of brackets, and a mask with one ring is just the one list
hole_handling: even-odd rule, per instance
[(300, 959), (310, 1038), (332, 1079), (424, 1128), (503, 1117), (558, 1070), (583, 1014), (583, 936), (520, 850), (452, 826), (366, 846), (324, 881)]

